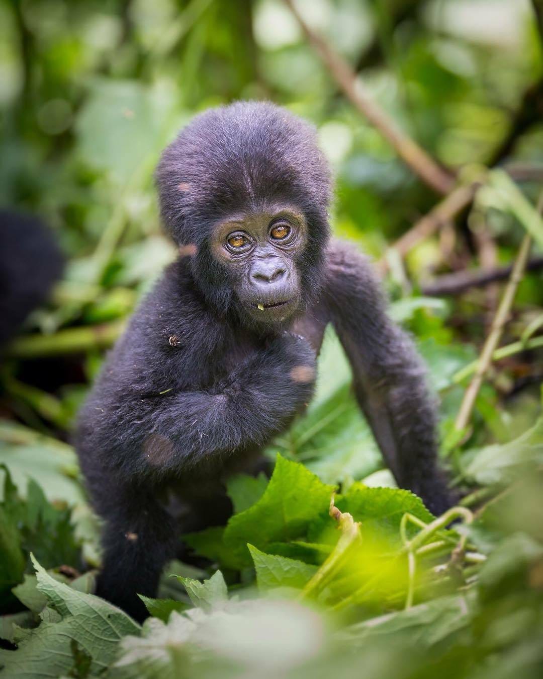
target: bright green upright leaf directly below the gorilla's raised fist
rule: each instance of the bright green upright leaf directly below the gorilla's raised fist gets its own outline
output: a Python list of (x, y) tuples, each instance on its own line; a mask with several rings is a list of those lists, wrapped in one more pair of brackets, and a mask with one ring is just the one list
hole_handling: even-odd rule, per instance
[(264, 549), (268, 543), (304, 536), (308, 524), (327, 512), (334, 486), (326, 485), (299, 462), (280, 455), (264, 494), (249, 509), (234, 515), (224, 531), (224, 543), (242, 565), (250, 565), (247, 543)]

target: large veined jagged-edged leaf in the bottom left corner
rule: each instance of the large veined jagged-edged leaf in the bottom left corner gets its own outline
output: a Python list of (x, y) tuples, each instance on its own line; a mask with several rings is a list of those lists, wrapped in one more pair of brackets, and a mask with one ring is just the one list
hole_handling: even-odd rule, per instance
[(6, 679), (66, 676), (82, 657), (92, 659), (89, 673), (98, 674), (113, 662), (119, 640), (139, 634), (140, 626), (119, 608), (57, 582), (34, 559), (38, 589), (51, 608), (42, 623), (26, 630), (15, 651), (0, 650)]

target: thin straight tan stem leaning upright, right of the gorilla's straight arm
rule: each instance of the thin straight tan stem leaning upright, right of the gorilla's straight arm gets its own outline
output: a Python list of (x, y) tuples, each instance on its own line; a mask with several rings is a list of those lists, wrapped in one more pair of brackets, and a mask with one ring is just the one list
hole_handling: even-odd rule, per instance
[(464, 399), (462, 399), (462, 405), (460, 405), (460, 411), (458, 412), (458, 417), (454, 424), (455, 428), (459, 431), (466, 428), (469, 422), (471, 411), (475, 405), (475, 399), (477, 399), (477, 394), (483, 384), (483, 378), (489, 365), (492, 361), (492, 354), (498, 348), (500, 339), (502, 338), (502, 333), (513, 303), (515, 299), (515, 293), (517, 292), (517, 287), (519, 287), (519, 282), (521, 282), (526, 262), (528, 259), (528, 254), (531, 246), (531, 236), (526, 234), (523, 238), (519, 254), (517, 259), (515, 259), (515, 264), (513, 265), (511, 276), (509, 282), (504, 290), (502, 300), (500, 301), (500, 306), (498, 306), (498, 311), (494, 320), (492, 321), (491, 329), (489, 335), (486, 339), (485, 346), (483, 346), (483, 351), (477, 362), (477, 370), (470, 385), (466, 389), (464, 394)]

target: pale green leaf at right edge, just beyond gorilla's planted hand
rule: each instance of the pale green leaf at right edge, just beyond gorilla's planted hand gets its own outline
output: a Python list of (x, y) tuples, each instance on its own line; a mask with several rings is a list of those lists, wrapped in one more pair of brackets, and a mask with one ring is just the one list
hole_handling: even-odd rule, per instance
[(543, 417), (514, 441), (487, 445), (475, 452), (464, 475), (478, 483), (503, 483), (529, 462), (543, 462)]

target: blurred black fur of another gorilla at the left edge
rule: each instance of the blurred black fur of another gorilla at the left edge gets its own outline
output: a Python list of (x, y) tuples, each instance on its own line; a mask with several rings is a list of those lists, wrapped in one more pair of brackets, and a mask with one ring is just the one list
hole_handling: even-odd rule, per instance
[(0, 347), (47, 299), (62, 265), (56, 240), (39, 219), (0, 210)]

